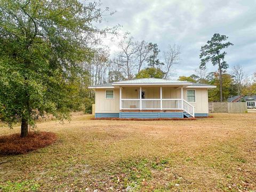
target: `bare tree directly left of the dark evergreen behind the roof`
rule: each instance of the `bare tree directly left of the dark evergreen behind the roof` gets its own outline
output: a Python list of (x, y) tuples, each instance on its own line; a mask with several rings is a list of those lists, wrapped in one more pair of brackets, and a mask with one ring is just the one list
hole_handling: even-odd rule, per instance
[(137, 50), (136, 56), (137, 56), (137, 66), (138, 66), (138, 73), (140, 73), (140, 69), (143, 66), (143, 63), (147, 61), (150, 53), (150, 48), (148, 46), (148, 43), (146, 41), (141, 42), (135, 42), (135, 49)]

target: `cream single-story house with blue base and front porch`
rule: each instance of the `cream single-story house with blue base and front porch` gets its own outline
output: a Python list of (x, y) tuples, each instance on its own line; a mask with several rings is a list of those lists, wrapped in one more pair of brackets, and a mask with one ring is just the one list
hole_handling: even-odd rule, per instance
[(208, 116), (208, 89), (216, 86), (141, 78), (90, 86), (95, 117), (183, 118)]

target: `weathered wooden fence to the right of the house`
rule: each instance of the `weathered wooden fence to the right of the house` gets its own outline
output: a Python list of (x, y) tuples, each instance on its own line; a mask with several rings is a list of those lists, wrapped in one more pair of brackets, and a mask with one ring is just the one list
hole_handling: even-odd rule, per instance
[(247, 113), (246, 102), (209, 102), (209, 113)]

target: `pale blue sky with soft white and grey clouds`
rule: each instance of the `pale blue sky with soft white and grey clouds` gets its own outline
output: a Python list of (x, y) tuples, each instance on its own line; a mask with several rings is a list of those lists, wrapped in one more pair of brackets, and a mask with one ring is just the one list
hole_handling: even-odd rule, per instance
[[(256, 0), (102, 0), (102, 7), (116, 11), (106, 20), (108, 26), (121, 25), (120, 33), (129, 31), (138, 41), (157, 43), (162, 52), (168, 45), (179, 45), (173, 77), (195, 73), (201, 46), (214, 33), (227, 35), (234, 44), (226, 50), (228, 72), (235, 65), (241, 65), (246, 76), (256, 72)], [(118, 41), (103, 43), (114, 53)], [(215, 70), (217, 66), (207, 64), (208, 72)]]

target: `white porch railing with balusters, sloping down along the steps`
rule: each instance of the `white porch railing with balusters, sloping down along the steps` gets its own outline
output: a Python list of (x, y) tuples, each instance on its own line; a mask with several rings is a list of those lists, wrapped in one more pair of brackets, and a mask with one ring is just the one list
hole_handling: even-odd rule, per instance
[(121, 110), (184, 110), (195, 117), (194, 106), (184, 99), (121, 99), (121, 102)]

